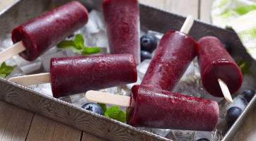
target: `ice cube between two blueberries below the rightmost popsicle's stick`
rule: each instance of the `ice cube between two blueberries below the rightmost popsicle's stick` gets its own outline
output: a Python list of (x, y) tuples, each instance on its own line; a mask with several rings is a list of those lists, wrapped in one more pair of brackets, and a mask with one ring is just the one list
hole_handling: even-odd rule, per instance
[(233, 106), (237, 106), (240, 109), (242, 109), (242, 111), (243, 111), (247, 105), (248, 105), (248, 102), (245, 99), (245, 97), (243, 97), (242, 95), (238, 95), (237, 97), (235, 97), (233, 99), (232, 104), (228, 104), (228, 106), (226, 106), (225, 113), (226, 113), (226, 111), (228, 111), (228, 109), (230, 109)]

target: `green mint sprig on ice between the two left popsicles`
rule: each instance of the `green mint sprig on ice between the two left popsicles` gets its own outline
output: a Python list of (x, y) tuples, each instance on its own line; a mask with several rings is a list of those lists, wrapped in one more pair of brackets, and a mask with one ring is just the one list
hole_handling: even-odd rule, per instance
[(82, 52), (83, 55), (97, 54), (98, 52), (100, 52), (100, 48), (98, 47), (84, 47), (83, 42), (83, 36), (77, 34), (74, 41), (62, 41), (59, 44), (57, 44), (57, 47), (61, 49), (71, 49), (74, 53)]

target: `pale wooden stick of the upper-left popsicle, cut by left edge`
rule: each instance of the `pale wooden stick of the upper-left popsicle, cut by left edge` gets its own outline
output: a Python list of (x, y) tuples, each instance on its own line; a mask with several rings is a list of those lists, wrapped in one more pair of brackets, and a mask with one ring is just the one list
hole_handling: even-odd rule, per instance
[(13, 44), (11, 47), (8, 47), (8, 49), (0, 52), (0, 63), (3, 63), (4, 61), (11, 59), (12, 56), (19, 54), (22, 51), (25, 51), (25, 47), (22, 41)]

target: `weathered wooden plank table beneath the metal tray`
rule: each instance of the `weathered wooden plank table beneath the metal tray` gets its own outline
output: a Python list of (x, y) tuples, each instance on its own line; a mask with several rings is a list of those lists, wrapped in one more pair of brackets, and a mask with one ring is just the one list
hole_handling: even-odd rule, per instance
[[(14, 0), (0, 0), (0, 11)], [(139, 0), (167, 11), (183, 16), (192, 15), (194, 18), (210, 23), (210, 9), (214, 0)], [(254, 0), (256, 1), (256, 0)], [(3, 20), (3, 19), (1, 19)], [(256, 112), (250, 113), (243, 126), (238, 130), (233, 141), (256, 140)], [(0, 139), (6, 140), (90, 140), (103, 139), (84, 133), (69, 125), (52, 121), (18, 106), (0, 100)]]

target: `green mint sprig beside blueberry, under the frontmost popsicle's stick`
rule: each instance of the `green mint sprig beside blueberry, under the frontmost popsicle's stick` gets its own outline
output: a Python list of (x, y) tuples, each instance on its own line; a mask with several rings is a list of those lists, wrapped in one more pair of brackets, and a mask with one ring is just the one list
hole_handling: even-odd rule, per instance
[(110, 109), (107, 109), (106, 104), (98, 104), (103, 108), (104, 116), (107, 118), (112, 118), (122, 123), (126, 121), (126, 114), (118, 109), (118, 106), (112, 106)]

